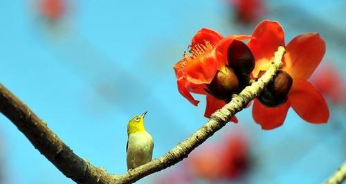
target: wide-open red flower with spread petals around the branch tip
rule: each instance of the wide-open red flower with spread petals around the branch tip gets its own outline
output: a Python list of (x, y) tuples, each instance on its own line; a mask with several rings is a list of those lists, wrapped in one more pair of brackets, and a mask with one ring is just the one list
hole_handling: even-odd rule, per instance
[[(255, 56), (253, 76), (266, 71), (271, 65), (275, 50), (284, 45), (284, 31), (277, 21), (262, 21), (253, 31), (253, 39), (248, 42)], [(253, 104), (253, 118), (262, 129), (280, 127), (286, 118), (289, 107), (307, 122), (324, 123), (329, 118), (325, 99), (307, 79), (325, 55), (325, 41), (318, 33), (306, 33), (293, 38), (286, 46), (284, 55), (285, 71), (293, 78), (288, 100), (279, 107), (266, 107), (258, 99)]]

